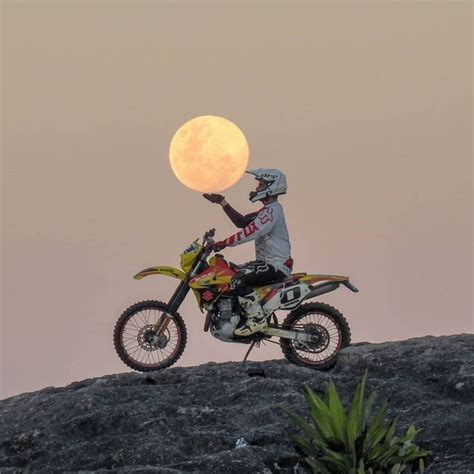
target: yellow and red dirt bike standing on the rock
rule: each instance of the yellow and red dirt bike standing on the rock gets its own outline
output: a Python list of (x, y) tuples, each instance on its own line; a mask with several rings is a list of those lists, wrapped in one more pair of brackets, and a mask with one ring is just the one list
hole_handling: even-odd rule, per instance
[[(336, 365), (337, 353), (350, 344), (351, 333), (344, 316), (325, 303), (304, 303), (315, 296), (334, 291), (340, 284), (353, 292), (346, 276), (295, 273), (284, 280), (270, 281), (255, 287), (260, 296), (268, 328), (249, 336), (236, 336), (234, 330), (245, 321), (237, 295), (230, 290), (232, 276), (239, 266), (227, 262), (214, 250), (214, 232), (197, 238), (181, 254), (181, 268), (158, 266), (145, 268), (133, 278), (166, 275), (180, 280), (168, 303), (149, 300), (130, 306), (119, 317), (114, 329), (114, 346), (118, 356), (132, 369), (148, 372), (173, 365), (186, 346), (187, 331), (178, 309), (190, 290), (201, 312), (206, 311), (204, 331), (221, 341), (251, 344), (278, 342), (286, 359), (297, 365), (329, 370)], [(319, 283), (314, 285), (315, 283)], [(291, 310), (282, 324), (275, 311)]]

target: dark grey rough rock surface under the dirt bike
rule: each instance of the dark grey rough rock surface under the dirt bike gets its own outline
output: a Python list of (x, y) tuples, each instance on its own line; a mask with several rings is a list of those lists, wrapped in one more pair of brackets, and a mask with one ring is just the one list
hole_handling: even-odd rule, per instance
[(469, 334), (355, 344), (330, 372), (211, 362), (10, 397), (0, 400), (0, 472), (307, 472), (289, 438), (299, 430), (279, 405), (308, 418), (303, 384), (323, 394), (333, 380), (347, 407), (366, 368), (366, 395), (388, 400), (398, 434), (423, 429), (415, 442), (433, 452), (426, 472), (474, 472)]

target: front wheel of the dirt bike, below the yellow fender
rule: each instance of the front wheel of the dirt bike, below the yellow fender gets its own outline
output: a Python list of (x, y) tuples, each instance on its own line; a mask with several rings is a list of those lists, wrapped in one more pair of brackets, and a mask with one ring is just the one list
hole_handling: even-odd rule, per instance
[(122, 361), (139, 372), (151, 372), (173, 365), (187, 340), (183, 318), (175, 313), (161, 336), (160, 325), (168, 318), (161, 301), (141, 301), (126, 309), (114, 329), (114, 346)]

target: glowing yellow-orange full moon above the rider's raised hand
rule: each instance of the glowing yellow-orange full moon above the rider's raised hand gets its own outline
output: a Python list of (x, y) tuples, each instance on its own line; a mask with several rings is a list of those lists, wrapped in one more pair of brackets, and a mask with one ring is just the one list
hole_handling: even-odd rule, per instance
[(170, 164), (188, 188), (203, 193), (230, 188), (244, 174), (249, 147), (230, 120), (206, 115), (182, 125), (170, 144)]

